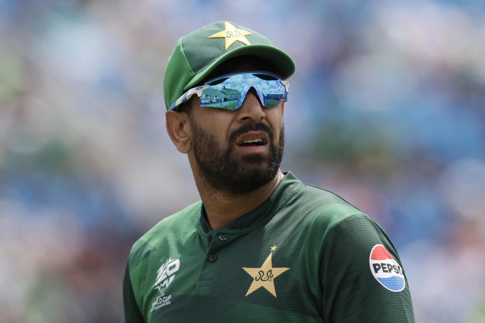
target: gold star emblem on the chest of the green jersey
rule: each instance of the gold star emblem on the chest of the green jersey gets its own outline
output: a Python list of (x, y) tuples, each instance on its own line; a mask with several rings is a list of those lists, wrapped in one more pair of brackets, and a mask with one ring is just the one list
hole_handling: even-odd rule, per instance
[(281, 275), (282, 273), (286, 272), (289, 268), (286, 267), (273, 267), (271, 256), (273, 254), (273, 250), (276, 249), (276, 246), (271, 248), (271, 252), (264, 260), (263, 264), (259, 268), (246, 268), (243, 269), (248, 273), (251, 277), (253, 277), (253, 283), (248, 289), (245, 297), (257, 290), (260, 287), (263, 287), (268, 292), (271, 293), (274, 297), (276, 297), (276, 291), (274, 289), (274, 279)]

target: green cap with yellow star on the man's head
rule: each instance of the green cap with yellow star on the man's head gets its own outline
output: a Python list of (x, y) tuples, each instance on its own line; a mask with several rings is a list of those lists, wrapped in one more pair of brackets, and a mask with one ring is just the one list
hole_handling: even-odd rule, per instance
[(274, 47), (265, 36), (228, 21), (217, 21), (181, 37), (175, 45), (163, 81), (167, 110), (219, 64), (242, 55), (271, 62), (277, 69), (271, 72), (284, 80), (295, 72), (292, 58)]

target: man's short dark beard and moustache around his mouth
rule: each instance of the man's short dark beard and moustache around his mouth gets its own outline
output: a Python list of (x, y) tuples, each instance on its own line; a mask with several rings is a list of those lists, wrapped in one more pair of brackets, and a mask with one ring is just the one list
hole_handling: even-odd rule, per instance
[[(190, 119), (193, 153), (205, 182), (217, 191), (242, 194), (254, 191), (274, 179), (279, 170), (284, 150), (284, 128), (274, 143), (271, 128), (263, 123), (247, 123), (227, 136), (227, 148), (217, 145), (215, 136), (207, 133)], [(235, 141), (248, 131), (268, 134), (268, 154), (236, 155)]]

